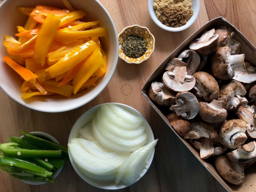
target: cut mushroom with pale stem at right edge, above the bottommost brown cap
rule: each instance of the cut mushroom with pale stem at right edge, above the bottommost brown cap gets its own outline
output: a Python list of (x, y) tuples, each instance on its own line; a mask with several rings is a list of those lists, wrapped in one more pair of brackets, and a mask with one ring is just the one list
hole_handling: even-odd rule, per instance
[(250, 142), (227, 153), (228, 158), (236, 163), (250, 163), (256, 159), (256, 142)]

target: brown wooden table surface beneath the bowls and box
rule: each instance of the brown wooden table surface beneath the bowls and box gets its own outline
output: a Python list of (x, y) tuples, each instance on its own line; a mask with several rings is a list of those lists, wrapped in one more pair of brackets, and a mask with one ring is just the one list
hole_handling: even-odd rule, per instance
[[(200, 12), (195, 23), (182, 32), (168, 32), (151, 19), (147, 0), (99, 0), (110, 13), (117, 33), (126, 26), (138, 24), (150, 29), (155, 36), (155, 50), (140, 65), (127, 64), (119, 59), (109, 85), (90, 103), (65, 113), (38, 112), (12, 100), (0, 89), (0, 142), (10, 135), (20, 136), (18, 130), (42, 131), (67, 145), (74, 122), (89, 108), (101, 103), (117, 102), (137, 109), (148, 120), (155, 138), (155, 156), (147, 173), (137, 183), (119, 191), (226, 191), (203, 167), (196, 157), (145, 100), (141, 89), (147, 78), (190, 34), (209, 20), (224, 16), (246, 38), (256, 45), (255, 0), (200, 0)], [(66, 164), (56, 183), (32, 186), (0, 172), (0, 191), (105, 191), (83, 181), (71, 163)]]

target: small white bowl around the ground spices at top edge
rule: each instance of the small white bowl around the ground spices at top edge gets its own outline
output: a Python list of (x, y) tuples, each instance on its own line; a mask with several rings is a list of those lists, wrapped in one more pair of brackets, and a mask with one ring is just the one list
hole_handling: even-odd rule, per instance
[(155, 2), (155, 0), (148, 0), (148, 11), (150, 13), (150, 16), (156, 25), (158, 25), (160, 28), (162, 28), (166, 31), (178, 32), (178, 31), (183, 31), (183, 30), (187, 29), (195, 22), (198, 14), (199, 14), (200, 2), (199, 2), (199, 0), (192, 0), (192, 10), (194, 13), (193, 13), (192, 17), (187, 21), (187, 23), (181, 27), (167, 27), (167, 26), (163, 25), (157, 19), (156, 14), (154, 12), (154, 8), (153, 8), (154, 2)]

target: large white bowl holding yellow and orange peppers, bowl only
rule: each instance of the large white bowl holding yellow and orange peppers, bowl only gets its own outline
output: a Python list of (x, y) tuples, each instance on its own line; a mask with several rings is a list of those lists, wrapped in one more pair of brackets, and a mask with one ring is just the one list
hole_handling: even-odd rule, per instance
[[(97, 0), (69, 1), (75, 9), (84, 9), (87, 12), (86, 17), (88, 20), (90, 19), (93, 21), (100, 19), (104, 26), (108, 29), (108, 38), (105, 39), (106, 43), (104, 44), (108, 57), (106, 74), (103, 76), (96, 87), (77, 93), (76, 95), (72, 95), (71, 98), (65, 98), (60, 95), (47, 95), (47, 97), (34, 96), (23, 100), (20, 98), (20, 87), (22, 85), (22, 81), (19, 79), (19, 75), (14, 70), (12, 70), (2, 59), (0, 59), (0, 87), (12, 99), (31, 109), (42, 112), (64, 112), (83, 106), (102, 92), (102, 90), (110, 82), (116, 69), (118, 60), (118, 38), (115, 25), (109, 13)], [(16, 11), (16, 7), (33, 7), (36, 5), (49, 5), (65, 8), (63, 6), (62, 0), (5, 0), (0, 5), (0, 37), (2, 41), (4, 40), (4, 35), (15, 36), (15, 33), (17, 33), (16, 27), (24, 26), (28, 18), (27, 16)], [(3, 58), (8, 53), (3, 44), (0, 44), (0, 58)]]

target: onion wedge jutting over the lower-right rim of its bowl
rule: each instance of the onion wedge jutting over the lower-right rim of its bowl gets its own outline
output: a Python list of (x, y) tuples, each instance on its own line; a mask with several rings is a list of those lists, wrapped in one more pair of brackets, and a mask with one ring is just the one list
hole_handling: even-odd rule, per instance
[(115, 183), (123, 181), (125, 184), (133, 184), (145, 166), (146, 159), (154, 149), (158, 139), (132, 152), (121, 164), (115, 179)]

